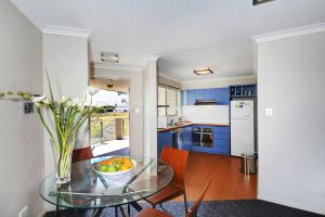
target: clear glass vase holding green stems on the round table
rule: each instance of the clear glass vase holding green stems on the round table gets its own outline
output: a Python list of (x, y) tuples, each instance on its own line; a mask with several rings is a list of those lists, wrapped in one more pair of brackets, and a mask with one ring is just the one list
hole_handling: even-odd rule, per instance
[(52, 142), (52, 148), (56, 173), (56, 183), (58, 186), (69, 183), (72, 175), (72, 157), (74, 143), (55, 144)]

